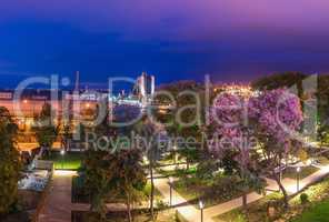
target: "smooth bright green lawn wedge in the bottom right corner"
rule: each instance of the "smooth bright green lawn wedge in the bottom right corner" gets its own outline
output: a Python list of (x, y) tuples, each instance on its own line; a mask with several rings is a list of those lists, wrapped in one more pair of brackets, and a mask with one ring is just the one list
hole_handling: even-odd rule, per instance
[(329, 221), (329, 201), (316, 204), (311, 209), (305, 211), (293, 222), (328, 222)]

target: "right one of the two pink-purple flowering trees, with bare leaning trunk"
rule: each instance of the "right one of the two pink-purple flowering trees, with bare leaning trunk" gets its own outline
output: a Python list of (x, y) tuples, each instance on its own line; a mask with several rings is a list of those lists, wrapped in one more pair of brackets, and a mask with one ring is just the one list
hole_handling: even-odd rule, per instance
[(276, 180), (288, 208), (288, 194), (281, 183), (281, 164), (300, 149), (298, 131), (303, 121), (300, 101), (285, 89), (266, 91), (249, 101), (249, 120), (261, 151), (260, 167)]

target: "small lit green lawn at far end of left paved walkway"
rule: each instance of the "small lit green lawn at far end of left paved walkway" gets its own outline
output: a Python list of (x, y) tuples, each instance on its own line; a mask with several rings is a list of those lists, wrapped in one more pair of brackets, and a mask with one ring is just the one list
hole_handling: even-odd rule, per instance
[(78, 170), (81, 167), (83, 155), (80, 152), (67, 152), (64, 155), (61, 155), (60, 152), (53, 151), (44, 160), (53, 161), (56, 170)]

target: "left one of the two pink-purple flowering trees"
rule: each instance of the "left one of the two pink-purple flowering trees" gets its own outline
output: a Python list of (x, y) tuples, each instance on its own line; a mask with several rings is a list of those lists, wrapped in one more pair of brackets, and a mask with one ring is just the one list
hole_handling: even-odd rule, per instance
[(248, 192), (253, 189), (261, 193), (265, 185), (255, 168), (253, 152), (250, 149), (248, 98), (229, 93), (220, 94), (211, 108), (210, 121), (216, 140), (210, 148), (211, 152), (220, 161), (226, 161), (228, 153), (235, 153), (231, 161), (238, 163), (237, 171), (241, 179), (238, 185), (243, 193), (242, 200), (246, 206)]

